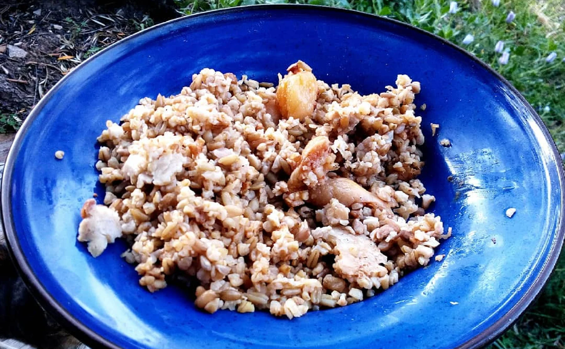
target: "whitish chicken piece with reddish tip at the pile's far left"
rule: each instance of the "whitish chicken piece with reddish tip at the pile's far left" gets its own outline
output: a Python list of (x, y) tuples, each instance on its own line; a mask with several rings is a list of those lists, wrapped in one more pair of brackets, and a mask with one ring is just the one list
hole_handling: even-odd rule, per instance
[(82, 221), (79, 225), (80, 242), (88, 242), (88, 252), (99, 256), (116, 238), (121, 237), (121, 225), (118, 212), (104, 205), (97, 205), (94, 199), (88, 199), (80, 211)]

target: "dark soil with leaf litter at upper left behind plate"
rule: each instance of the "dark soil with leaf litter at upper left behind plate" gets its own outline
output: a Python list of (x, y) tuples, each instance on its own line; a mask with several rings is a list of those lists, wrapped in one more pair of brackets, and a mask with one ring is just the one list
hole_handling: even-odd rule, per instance
[(41, 97), (89, 56), (179, 15), (173, 0), (8, 0), (0, 5), (0, 132), (18, 128)]

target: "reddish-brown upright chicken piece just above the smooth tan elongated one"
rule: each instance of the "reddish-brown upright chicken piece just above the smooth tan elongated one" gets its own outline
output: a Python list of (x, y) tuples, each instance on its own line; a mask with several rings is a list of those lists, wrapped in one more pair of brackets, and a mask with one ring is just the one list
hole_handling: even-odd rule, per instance
[(310, 139), (310, 142), (302, 151), (301, 162), (290, 173), (287, 182), (290, 190), (305, 189), (306, 186), (315, 186), (325, 180), (327, 173), (332, 169), (333, 160), (335, 160), (330, 145), (331, 142), (327, 136)]

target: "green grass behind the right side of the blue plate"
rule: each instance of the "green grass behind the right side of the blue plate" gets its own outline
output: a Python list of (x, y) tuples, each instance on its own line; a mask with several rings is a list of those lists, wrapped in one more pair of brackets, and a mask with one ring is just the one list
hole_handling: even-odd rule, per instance
[[(565, 152), (565, 19), (563, 0), (458, 1), (449, 13), (446, 0), (179, 0), (186, 14), (255, 3), (310, 3), (340, 6), (386, 15), (438, 34), (464, 47), (505, 76), (528, 100), (550, 130), (560, 152)], [(506, 23), (510, 11), (516, 17)], [(463, 44), (471, 34), (474, 41)], [(510, 54), (500, 64), (498, 41)], [(555, 52), (557, 58), (546, 62)], [(538, 300), (489, 349), (565, 348), (565, 255)]]

